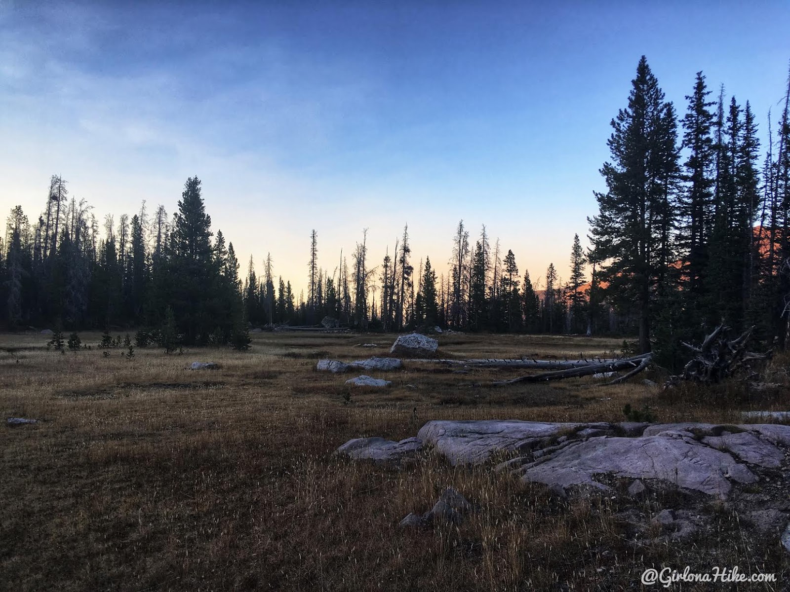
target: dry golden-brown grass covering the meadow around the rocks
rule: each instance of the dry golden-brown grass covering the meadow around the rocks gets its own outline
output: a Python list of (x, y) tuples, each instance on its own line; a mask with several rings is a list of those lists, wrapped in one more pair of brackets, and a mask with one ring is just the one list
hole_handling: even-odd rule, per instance
[[(332, 454), (352, 437), (413, 436), (430, 419), (616, 422), (625, 403), (665, 422), (737, 422), (740, 408), (787, 408), (786, 389), (756, 402), (736, 388), (660, 395), (641, 380), (493, 388), (484, 384), (513, 372), (407, 365), (374, 373), (393, 381), (380, 392), (349, 389), (314, 364), (385, 355), (393, 335), (263, 333), (248, 353), (137, 349), (134, 359), (122, 349), (106, 358), (100, 335), (81, 336), (92, 350), (59, 354), (43, 335), (0, 335), (3, 418), (43, 420), (2, 426), (0, 588), (619, 590), (638, 589), (652, 565), (788, 568), (777, 541), (752, 536), (726, 506), (714, 508), (713, 537), (635, 546), (615, 512), (649, 515), (677, 502), (671, 494), (558, 500), (491, 466)], [(371, 342), (384, 347), (355, 347)], [(622, 340), (455, 334), (440, 343), (446, 357), (562, 358), (619, 350)], [(220, 369), (186, 369), (194, 360)], [(460, 527), (397, 529), (449, 485), (480, 511)]]

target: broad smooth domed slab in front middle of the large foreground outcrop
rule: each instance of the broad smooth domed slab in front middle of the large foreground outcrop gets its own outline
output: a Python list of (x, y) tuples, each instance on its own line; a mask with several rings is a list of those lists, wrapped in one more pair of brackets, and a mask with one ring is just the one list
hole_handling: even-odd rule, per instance
[(592, 485), (608, 490), (596, 474), (663, 479), (679, 487), (726, 497), (728, 478), (750, 483), (757, 477), (731, 455), (685, 437), (596, 438), (574, 442), (544, 459), (513, 471), (523, 481), (551, 485)]

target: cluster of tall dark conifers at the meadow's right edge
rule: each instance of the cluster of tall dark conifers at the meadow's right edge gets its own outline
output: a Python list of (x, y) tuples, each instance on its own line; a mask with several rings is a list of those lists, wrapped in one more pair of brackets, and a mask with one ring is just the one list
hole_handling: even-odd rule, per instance
[[(751, 105), (698, 73), (679, 119), (643, 56), (612, 120), (611, 162), (589, 219), (593, 302), (636, 320), (639, 348), (676, 365), (683, 340), (724, 321), (784, 349), (790, 302), (790, 80), (760, 155)], [(682, 134), (682, 135), (681, 135)]]

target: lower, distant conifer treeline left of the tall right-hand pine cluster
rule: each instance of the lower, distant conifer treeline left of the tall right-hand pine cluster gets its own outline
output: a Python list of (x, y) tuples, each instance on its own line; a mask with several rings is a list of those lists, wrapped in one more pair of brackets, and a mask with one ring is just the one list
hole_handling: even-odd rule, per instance
[(367, 230), (350, 261), (333, 273), (318, 266), (318, 233), (310, 234), (307, 294), (276, 276), (267, 255), (261, 277), (244, 279), (232, 243), (213, 235), (198, 178), (187, 180), (178, 212), (145, 203), (131, 218), (110, 216), (103, 228), (85, 201), (69, 197), (53, 176), (45, 208), (30, 223), (13, 208), (0, 249), (3, 324), (11, 329), (148, 327), (174, 330), (183, 343), (227, 343), (249, 326), (328, 325), (367, 331), (459, 328), (498, 332), (582, 332), (589, 327), (583, 290), (585, 258), (575, 238), (570, 283), (550, 264), (545, 289), (520, 275), (512, 251), (489, 245), (483, 226), (470, 245), (463, 221), (453, 237), (448, 273), (430, 257), (415, 265), (408, 227), (373, 266)]

